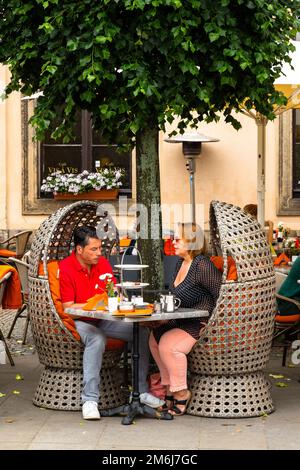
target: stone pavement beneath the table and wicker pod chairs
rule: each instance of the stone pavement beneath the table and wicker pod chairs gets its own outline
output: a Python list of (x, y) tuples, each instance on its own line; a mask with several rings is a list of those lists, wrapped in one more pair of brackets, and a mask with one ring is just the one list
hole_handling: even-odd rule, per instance
[[(9, 329), (14, 311), (0, 311), (0, 327)], [(300, 367), (281, 367), (282, 351), (272, 350), (266, 371), (276, 410), (257, 418), (201, 418), (173, 421), (138, 418), (122, 426), (120, 417), (87, 422), (80, 412), (46, 410), (32, 404), (42, 366), (32, 345), (18, 341), (19, 320), (9, 341), (15, 367), (0, 365), (0, 449), (66, 450), (267, 450), (300, 449)], [(279, 376), (279, 377), (278, 377)]]

